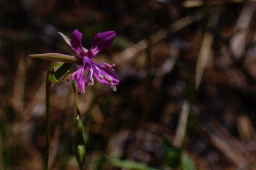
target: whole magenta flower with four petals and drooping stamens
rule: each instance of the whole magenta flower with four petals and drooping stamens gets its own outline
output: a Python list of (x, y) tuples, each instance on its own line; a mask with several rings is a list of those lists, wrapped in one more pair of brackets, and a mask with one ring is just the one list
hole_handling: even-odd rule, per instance
[[(96, 54), (109, 48), (116, 36), (114, 31), (98, 33), (92, 42), (91, 49), (88, 51), (82, 47), (81, 39), (82, 33), (77, 29), (71, 35), (71, 47), (79, 57), (81, 57), (81, 63), (78, 69), (72, 74), (68, 81), (76, 79), (76, 83), (81, 90), (80, 94), (85, 93), (86, 85), (93, 85), (93, 77), (103, 84), (109, 84), (110, 87), (116, 91), (116, 86), (119, 82), (118, 77), (114, 73), (115, 64), (112, 66), (106, 63), (97, 64), (92, 59)], [(85, 71), (88, 70), (86, 76)]]

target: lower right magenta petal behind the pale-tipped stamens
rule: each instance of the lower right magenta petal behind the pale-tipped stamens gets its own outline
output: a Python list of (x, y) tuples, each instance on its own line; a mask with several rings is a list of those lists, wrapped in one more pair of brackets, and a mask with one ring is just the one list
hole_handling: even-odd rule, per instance
[[(102, 67), (99, 67), (99, 69), (106, 75), (106, 76), (109, 76), (111, 79), (112, 79), (112, 82), (113, 82), (113, 85), (118, 85), (119, 83), (119, 79), (118, 77), (116, 76), (115, 72), (112, 71), (112, 70), (109, 70), (108, 68), (106, 68), (105, 66), (102, 66)], [(99, 74), (95, 71), (94, 72), (94, 76), (95, 78), (103, 83), (103, 84), (109, 84), (109, 81), (104, 78), (104, 79), (101, 79), (101, 77), (99, 76)]]

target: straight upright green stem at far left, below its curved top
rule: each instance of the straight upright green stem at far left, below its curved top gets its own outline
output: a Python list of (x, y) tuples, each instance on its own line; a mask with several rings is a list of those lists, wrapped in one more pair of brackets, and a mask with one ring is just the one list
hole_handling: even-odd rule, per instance
[(50, 146), (50, 90), (52, 83), (46, 81), (45, 91), (46, 91), (46, 125), (45, 125), (45, 170), (49, 169), (49, 146)]

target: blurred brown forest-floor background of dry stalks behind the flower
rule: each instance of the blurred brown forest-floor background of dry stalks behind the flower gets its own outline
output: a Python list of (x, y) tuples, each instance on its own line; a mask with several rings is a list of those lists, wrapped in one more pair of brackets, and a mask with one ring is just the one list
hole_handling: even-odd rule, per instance
[[(117, 91), (95, 81), (79, 95), (84, 169), (256, 169), (254, 0), (1, 0), (0, 169), (42, 170), (45, 79), (76, 55), (57, 32), (78, 29), (94, 58), (116, 64)], [(73, 66), (76, 68), (77, 66)], [(50, 169), (79, 169), (71, 84), (52, 85)]]

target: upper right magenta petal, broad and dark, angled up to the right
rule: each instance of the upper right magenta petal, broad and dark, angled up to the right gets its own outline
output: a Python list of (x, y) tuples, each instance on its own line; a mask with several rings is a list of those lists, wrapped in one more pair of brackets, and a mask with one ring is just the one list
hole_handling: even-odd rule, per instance
[(109, 48), (116, 37), (116, 33), (114, 31), (107, 31), (98, 33), (92, 42), (91, 45), (91, 55), (90, 58), (96, 56), (96, 54), (101, 51)]

